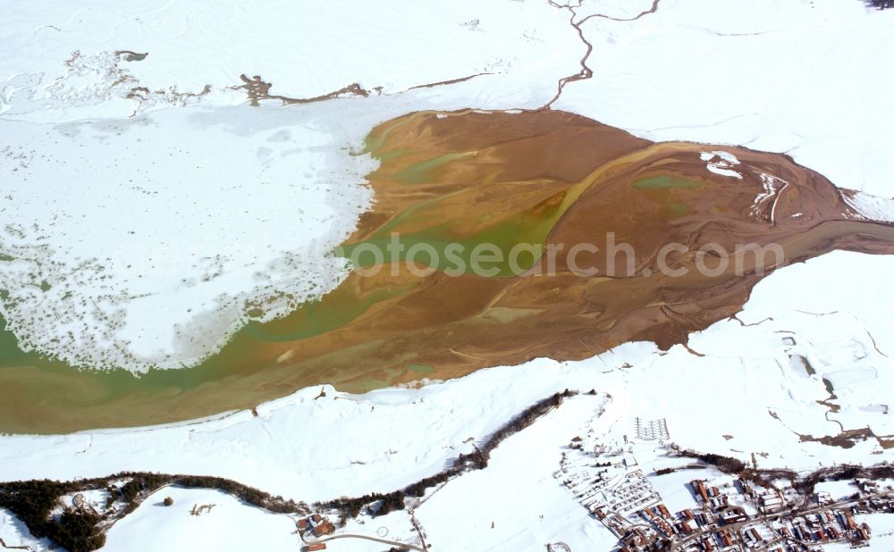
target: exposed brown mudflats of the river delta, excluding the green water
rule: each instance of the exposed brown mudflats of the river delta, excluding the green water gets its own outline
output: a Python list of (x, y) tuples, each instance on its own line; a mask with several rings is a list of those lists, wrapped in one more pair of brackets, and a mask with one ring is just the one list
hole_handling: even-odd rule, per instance
[[(439, 377), (452, 377), (536, 356), (585, 358), (637, 339), (670, 347), (735, 314), (762, 272), (778, 265), (834, 248), (894, 252), (894, 229), (852, 220), (855, 213), (829, 180), (784, 155), (723, 147), (740, 163), (735, 169), (741, 178), (733, 178), (707, 170), (702, 154), (717, 148), (654, 144), (554, 111), (417, 113), (380, 126), (371, 141), (383, 159), (369, 177), (376, 205), (349, 242), (369, 240), (382, 229), (412, 233), (444, 226), (462, 240), (519, 213), (548, 209), (551, 202), (564, 207), (546, 238), (565, 246), (554, 270), (545, 270), (547, 260), (541, 259), (540, 270), (516, 277), (434, 272), (409, 293), (300, 346), (325, 355), (332, 343), (375, 343), (365, 364), (379, 364), (384, 380), (415, 378), (383, 372), (408, 357), (434, 366)], [(434, 167), (423, 181), (401, 180), (409, 167), (451, 154), (461, 156)], [(577, 197), (569, 200), (572, 195)], [(407, 216), (409, 209), (417, 215)], [(605, 246), (610, 234), (635, 252), (628, 273), (611, 270)], [(659, 269), (661, 249), (670, 243), (684, 246), (669, 257), (672, 269), (686, 269), (684, 276)], [(569, 266), (575, 244), (600, 247), (586, 262), (586, 269), (598, 270), (595, 276), (582, 277)], [(743, 255), (736, 259), (738, 272), (734, 262), (718, 271), (720, 260), (708, 259), (703, 264), (712, 273), (705, 274), (696, 268), (697, 252), (709, 244), (728, 252), (779, 244), (784, 258)], [(627, 255), (616, 256), (626, 263)], [(381, 274), (355, 274), (346, 282), (361, 295), (394, 285), (394, 277)], [(342, 386), (351, 389), (369, 376)]]

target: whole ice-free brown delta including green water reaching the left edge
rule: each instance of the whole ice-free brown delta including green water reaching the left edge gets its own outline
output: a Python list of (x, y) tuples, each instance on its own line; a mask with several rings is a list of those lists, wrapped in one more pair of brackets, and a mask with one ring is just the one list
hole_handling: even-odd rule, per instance
[[(361, 262), (316, 304), (240, 331), (190, 385), (174, 375), (150, 386), (150, 374), (124, 392), (76, 371), (4, 368), (0, 431), (177, 422), (320, 383), (364, 391), (628, 341), (671, 347), (736, 314), (775, 268), (833, 249), (894, 253), (894, 226), (857, 216), (842, 190), (786, 155), (654, 143), (572, 113), (412, 113), (376, 127), (367, 151), (380, 162), (367, 177), (375, 205), (345, 255), (392, 235), (441, 252), (493, 243), (555, 254), (490, 276)], [(579, 244), (599, 249), (575, 263)], [(781, 256), (733, 255), (744, 245)]]

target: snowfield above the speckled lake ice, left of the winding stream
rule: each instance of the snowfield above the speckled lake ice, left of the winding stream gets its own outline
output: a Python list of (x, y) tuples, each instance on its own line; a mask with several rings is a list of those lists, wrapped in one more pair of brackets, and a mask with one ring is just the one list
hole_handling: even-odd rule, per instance
[[(241, 74), (310, 98), (355, 82), (392, 94), (491, 73), (479, 101), (512, 89), (521, 99), (552, 92), (580, 49), (566, 14), (546, 2), (53, 1), (4, 16), (0, 113), (31, 120), (128, 116), (198, 101), (183, 95), (206, 86), (202, 103), (241, 103), (230, 89)], [(119, 61), (122, 51), (137, 57)], [(149, 100), (125, 97), (139, 87)]]

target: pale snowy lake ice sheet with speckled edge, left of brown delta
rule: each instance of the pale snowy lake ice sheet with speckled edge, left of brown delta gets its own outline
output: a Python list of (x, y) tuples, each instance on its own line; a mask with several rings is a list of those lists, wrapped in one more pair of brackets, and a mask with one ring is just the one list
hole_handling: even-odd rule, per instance
[(270, 319), (333, 289), (347, 268), (327, 254), (367, 208), (375, 163), (339, 149), (349, 125), (327, 111), (4, 121), (10, 329), (74, 365), (176, 367), (250, 305)]

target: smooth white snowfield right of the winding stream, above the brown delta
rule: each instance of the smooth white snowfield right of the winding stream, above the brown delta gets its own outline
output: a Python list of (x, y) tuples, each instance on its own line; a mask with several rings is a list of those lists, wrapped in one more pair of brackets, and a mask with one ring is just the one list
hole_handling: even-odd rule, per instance
[(662, 0), (637, 21), (592, 18), (582, 29), (593, 78), (553, 107), (653, 140), (785, 152), (841, 188), (894, 196), (894, 104), (876, 92), (894, 87), (884, 69), (894, 12), (840, 0)]

